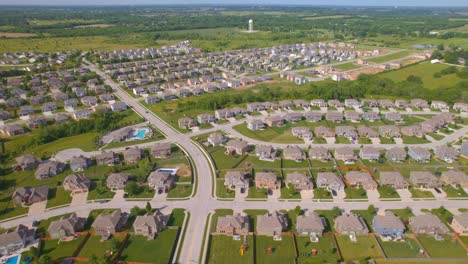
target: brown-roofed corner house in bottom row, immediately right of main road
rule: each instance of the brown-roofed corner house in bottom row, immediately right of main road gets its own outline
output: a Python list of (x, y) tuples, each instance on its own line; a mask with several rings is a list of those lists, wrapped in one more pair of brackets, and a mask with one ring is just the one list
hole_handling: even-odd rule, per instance
[(228, 236), (248, 235), (249, 228), (249, 217), (240, 214), (220, 216), (216, 223), (216, 233)]

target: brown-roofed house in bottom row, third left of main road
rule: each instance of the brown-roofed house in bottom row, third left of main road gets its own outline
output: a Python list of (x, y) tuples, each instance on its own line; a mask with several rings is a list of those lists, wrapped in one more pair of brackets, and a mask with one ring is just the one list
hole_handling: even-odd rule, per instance
[(50, 223), (49, 235), (51, 239), (65, 239), (73, 236), (76, 232), (84, 229), (86, 218), (78, 217), (76, 214), (70, 216), (62, 216), (60, 220)]

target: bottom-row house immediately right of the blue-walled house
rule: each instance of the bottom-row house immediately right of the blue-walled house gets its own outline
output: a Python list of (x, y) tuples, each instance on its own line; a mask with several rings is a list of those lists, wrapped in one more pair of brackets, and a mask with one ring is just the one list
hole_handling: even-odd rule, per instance
[(449, 232), (448, 227), (437, 216), (430, 213), (411, 217), (409, 225), (416, 234), (443, 235)]

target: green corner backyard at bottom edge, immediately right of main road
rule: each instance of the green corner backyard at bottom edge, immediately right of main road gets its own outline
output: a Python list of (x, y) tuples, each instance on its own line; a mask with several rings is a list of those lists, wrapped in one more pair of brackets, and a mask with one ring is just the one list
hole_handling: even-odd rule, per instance
[(210, 248), (207, 263), (254, 263), (254, 244), (251, 236), (247, 239), (247, 251), (243, 255), (240, 247), (244, 238), (236, 241), (230, 236), (214, 235), (210, 238)]

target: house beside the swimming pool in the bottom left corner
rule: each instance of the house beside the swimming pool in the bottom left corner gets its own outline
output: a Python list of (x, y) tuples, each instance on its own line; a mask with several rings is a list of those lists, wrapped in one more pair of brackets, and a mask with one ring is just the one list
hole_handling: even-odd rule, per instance
[(0, 235), (0, 255), (7, 256), (33, 244), (35, 234), (35, 228), (28, 228), (22, 224), (15, 230), (7, 230)]

